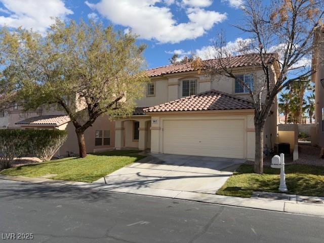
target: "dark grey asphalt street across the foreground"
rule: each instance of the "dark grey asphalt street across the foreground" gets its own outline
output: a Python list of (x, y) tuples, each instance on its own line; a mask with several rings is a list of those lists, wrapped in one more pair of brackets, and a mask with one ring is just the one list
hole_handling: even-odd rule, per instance
[(0, 242), (323, 241), (320, 217), (0, 180)]

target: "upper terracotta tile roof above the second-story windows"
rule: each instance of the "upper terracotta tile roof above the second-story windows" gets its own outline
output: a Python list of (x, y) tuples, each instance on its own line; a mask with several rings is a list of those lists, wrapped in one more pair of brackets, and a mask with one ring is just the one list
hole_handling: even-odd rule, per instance
[[(277, 54), (276, 53), (269, 53), (265, 55), (265, 62), (272, 63), (276, 60)], [(225, 58), (222, 58), (223, 65), (225, 62), (228, 62)], [(210, 59), (204, 61), (207, 65), (213, 65), (215, 67), (220, 68), (220, 59)], [(245, 66), (253, 66), (253, 65), (260, 65), (261, 59), (259, 54), (246, 54), (246, 55), (239, 55), (233, 56), (230, 58), (228, 64), (226, 65), (227, 68), (234, 68), (234, 67), (245, 67)], [(149, 77), (160, 76), (164, 74), (170, 73), (178, 73), (178, 72), (187, 72), (187, 71), (196, 71), (196, 68), (191, 66), (191, 62), (186, 63), (179, 63), (179, 64), (171, 64), (162, 67), (156, 67), (152, 69), (145, 70), (146, 74)]]

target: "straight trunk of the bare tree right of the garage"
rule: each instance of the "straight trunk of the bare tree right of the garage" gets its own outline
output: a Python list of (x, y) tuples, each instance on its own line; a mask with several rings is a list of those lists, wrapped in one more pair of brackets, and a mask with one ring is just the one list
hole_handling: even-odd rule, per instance
[(255, 123), (255, 163), (254, 172), (263, 174), (263, 124)]

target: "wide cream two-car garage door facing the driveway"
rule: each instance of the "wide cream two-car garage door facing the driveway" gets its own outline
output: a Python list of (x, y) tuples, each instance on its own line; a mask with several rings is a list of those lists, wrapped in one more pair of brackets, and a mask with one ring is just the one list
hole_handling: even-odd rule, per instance
[(244, 120), (165, 120), (164, 153), (244, 158)]

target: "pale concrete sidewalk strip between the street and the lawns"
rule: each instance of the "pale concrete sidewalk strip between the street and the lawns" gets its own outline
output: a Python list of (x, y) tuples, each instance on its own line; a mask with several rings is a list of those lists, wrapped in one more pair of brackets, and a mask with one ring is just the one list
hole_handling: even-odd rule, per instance
[[(139, 195), (148, 196), (158, 196), (167, 197), (182, 200), (193, 200), (202, 203), (218, 204), (218, 205), (228, 205), (244, 208), (262, 209), (277, 212), (287, 212), (295, 214), (305, 214), (305, 215), (315, 215), (324, 217), (324, 204), (312, 204), (305, 203), (307, 198), (311, 201), (313, 197), (305, 197), (292, 195), (296, 200), (285, 200), (285, 199), (267, 199), (261, 198), (254, 195), (254, 198), (244, 198), (244, 197), (233, 197), (233, 196), (221, 196), (208, 193), (199, 192), (188, 192), (188, 191), (178, 191), (178, 190), (166, 190), (166, 189), (151, 189), (151, 188), (140, 188), (135, 189), (129, 188), (119, 188), (112, 189), (109, 185), (99, 184), (99, 183), (86, 183), (86, 182), (74, 182), (74, 181), (61, 181), (52, 180), (46, 178), (30, 178), (22, 176), (7, 176), (0, 175), (2, 180), (13, 180), (22, 181), (29, 183), (42, 183), (53, 186), (70, 186), (79, 189), (91, 189), (91, 190), (102, 190), (110, 192), (121, 192), (121, 193), (132, 193)], [(134, 193), (136, 192), (136, 193)], [(287, 195), (287, 194), (286, 194)]]

